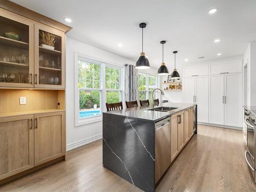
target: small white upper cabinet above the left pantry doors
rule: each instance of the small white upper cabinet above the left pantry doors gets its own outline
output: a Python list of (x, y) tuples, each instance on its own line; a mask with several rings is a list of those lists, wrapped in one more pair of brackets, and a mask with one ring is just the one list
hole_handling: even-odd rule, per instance
[(208, 75), (208, 65), (191, 66), (183, 68), (183, 77)]

